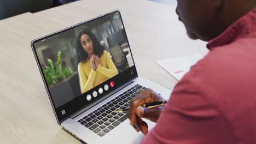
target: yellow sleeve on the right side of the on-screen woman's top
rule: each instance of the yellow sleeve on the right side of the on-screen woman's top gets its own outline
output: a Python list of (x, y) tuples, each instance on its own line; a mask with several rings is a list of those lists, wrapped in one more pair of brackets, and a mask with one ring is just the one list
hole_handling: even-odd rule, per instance
[(110, 79), (111, 77), (118, 74), (118, 70), (117, 67), (115, 67), (115, 64), (113, 63), (107, 51), (104, 51), (104, 55), (106, 58), (105, 61), (107, 63), (107, 68), (102, 67), (102, 65), (98, 64), (96, 71), (107, 76), (108, 79)]

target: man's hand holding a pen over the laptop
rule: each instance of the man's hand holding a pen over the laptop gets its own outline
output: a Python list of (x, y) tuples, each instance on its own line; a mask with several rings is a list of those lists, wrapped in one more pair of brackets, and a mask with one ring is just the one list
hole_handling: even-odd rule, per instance
[(149, 121), (152, 122), (157, 122), (163, 109), (163, 106), (148, 109), (147, 107), (142, 107), (141, 105), (162, 100), (164, 100), (164, 98), (162, 98), (152, 89), (139, 91), (136, 97), (131, 100), (127, 117), (130, 119), (130, 124), (137, 132), (141, 131), (144, 135), (146, 135), (148, 133), (148, 124), (142, 121), (142, 118), (149, 119)]

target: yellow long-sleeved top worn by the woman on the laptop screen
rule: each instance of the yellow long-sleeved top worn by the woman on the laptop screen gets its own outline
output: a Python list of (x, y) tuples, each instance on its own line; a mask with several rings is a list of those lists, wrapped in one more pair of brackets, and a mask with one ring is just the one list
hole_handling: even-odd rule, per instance
[(107, 51), (103, 51), (103, 55), (98, 58), (98, 67), (95, 70), (91, 68), (91, 62), (80, 62), (78, 64), (78, 73), (80, 80), (80, 89), (82, 93), (89, 91), (102, 82), (110, 79), (118, 74), (117, 67), (113, 63)]

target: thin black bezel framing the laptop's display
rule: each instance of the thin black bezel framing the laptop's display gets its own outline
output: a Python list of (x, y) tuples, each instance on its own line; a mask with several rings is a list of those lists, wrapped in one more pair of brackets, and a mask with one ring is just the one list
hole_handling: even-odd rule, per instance
[[(101, 16), (97, 16), (93, 19), (90, 19), (90, 20), (87, 20), (87, 21), (84, 21), (84, 22), (81, 22), (81, 23), (78, 23), (76, 25), (73, 25), (71, 27), (68, 27), (68, 28), (65, 28), (65, 29), (61, 29), (60, 31), (57, 31), (57, 32), (54, 32), (54, 33), (51, 33), (49, 35), (45, 35), (44, 37), (41, 37), (41, 38), (38, 38), (38, 39), (34, 39), (31, 41), (31, 47), (32, 47), (32, 50), (33, 50), (33, 53), (34, 53), (34, 57), (36, 58), (36, 61), (37, 61), (37, 65), (38, 65), (38, 68), (39, 68), (39, 71), (40, 71), (40, 74), (42, 76), (42, 79), (43, 79), (43, 82), (44, 82), (44, 85), (45, 85), (45, 88), (46, 88), (46, 91), (48, 93), (48, 96), (49, 96), (49, 99), (50, 99), (50, 102), (51, 102), (51, 105), (53, 107), (53, 110), (54, 110), (54, 113), (55, 113), (55, 116), (56, 116), (56, 119), (57, 119), (57, 122), (59, 124), (61, 124), (63, 121), (65, 121), (67, 118), (71, 117), (74, 113), (84, 109), (85, 107), (87, 107), (88, 105), (83, 105), (82, 107), (79, 107), (78, 110), (72, 110), (71, 112), (68, 113), (68, 115), (65, 115), (65, 116), (60, 116), (60, 113), (57, 111), (57, 108), (59, 107), (56, 107), (55, 104), (54, 104), (54, 101), (53, 101), (53, 98), (51, 97), (51, 93), (50, 93), (50, 89), (48, 87), (48, 84), (46, 82), (46, 79), (45, 79), (45, 76), (43, 74), (43, 69), (41, 67), (41, 64), (40, 64), (40, 61), (39, 61), (39, 58), (38, 58), (38, 55), (37, 55), (37, 51), (36, 51), (36, 47), (34, 47), (34, 43), (37, 43), (38, 41), (41, 41), (41, 40), (44, 40), (44, 39), (47, 39), (47, 38), (50, 38), (50, 37), (53, 37), (54, 35), (57, 35), (57, 34), (60, 34), (60, 33), (63, 33), (63, 32), (66, 32), (72, 28), (75, 28), (75, 27), (78, 27), (80, 25), (85, 25), (86, 23), (89, 23), (89, 22), (92, 22), (92, 21), (95, 21), (95, 20), (98, 20), (98, 19), (101, 19), (102, 17), (105, 17), (105, 16), (108, 16), (108, 15), (111, 15), (111, 14), (114, 14), (114, 13), (119, 13), (120, 15), (120, 19), (121, 19), (121, 23), (123, 25), (123, 28), (124, 28), (124, 33), (125, 33), (125, 37), (126, 37), (126, 40), (127, 40), (127, 44), (129, 45), (129, 49), (130, 49), (130, 52), (131, 52), (131, 57), (132, 57), (132, 61), (133, 61), (133, 66), (129, 68), (129, 70), (132, 70), (134, 71), (134, 74), (132, 74), (132, 76), (129, 77), (129, 80), (127, 80), (127, 82), (133, 80), (133, 79), (136, 79), (136, 77), (138, 77), (138, 74), (137, 74), (137, 70), (136, 70), (136, 67), (135, 67), (135, 62), (134, 62), (134, 59), (133, 59), (133, 56), (132, 56), (132, 51), (131, 51), (131, 48), (130, 48), (130, 44), (129, 44), (129, 40), (127, 38), (127, 34), (126, 34), (126, 31), (125, 31), (125, 27), (124, 27), (124, 22), (123, 22), (123, 19), (121, 17), (121, 13), (119, 10), (114, 10), (114, 11), (111, 11), (110, 13), (107, 13), (107, 14), (104, 14), (104, 15), (101, 15)], [(125, 71), (124, 71), (125, 72)], [(124, 73), (122, 72), (122, 73)], [(122, 74), (120, 73), (120, 74)], [(127, 73), (127, 71), (126, 71)], [(119, 76), (120, 74), (118, 74), (117, 76)], [(117, 77), (117, 76), (114, 76), (114, 77)], [(111, 79), (114, 79), (113, 77)], [(111, 80), (109, 79), (109, 80)], [(104, 82), (103, 82), (104, 83)], [(122, 84), (125, 84), (126, 82), (124, 83), (119, 83), (120, 85)], [(102, 84), (100, 84), (102, 85)], [(118, 89), (118, 87), (115, 87), (113, 89), (112, 92), (114, 92), (116, 89)], [(88, 91), (89, 92), (89, 91)], [(88, 92), (85, 92), (83, 93), (83, 95), (86, 95), (86, 93)], [(110, 93), (110, 92), (109, 92)], [(82, 95), (82, 94), (81, 94)], [(81, 96), (79, 95), (79, 97)], [(107, 95), (107, 94), (106, 94)], [(105, 97), (106, 95), (104, 95), (103, 97)], [(106, 97), (107, 98), (107, 97)], [(70, 101), (69, 101), (70, 102)], [(68, 102), (68, 103), (69, 103)], [(67, 103), (66, 103), (67, 104)]]

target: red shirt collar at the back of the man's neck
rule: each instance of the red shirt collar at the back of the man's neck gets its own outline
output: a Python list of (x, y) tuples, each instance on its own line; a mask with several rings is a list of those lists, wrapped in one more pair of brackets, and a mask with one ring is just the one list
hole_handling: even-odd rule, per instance
[(210, 40), (206, 46), (209, 50), (212, 50), (213, 47), (230, 44), (253, 32), (256, 32), (256, 8), (233, 23), (218, 37)]

